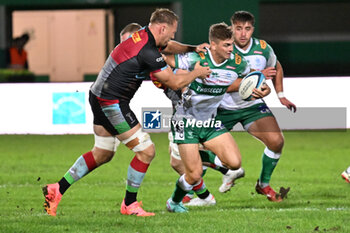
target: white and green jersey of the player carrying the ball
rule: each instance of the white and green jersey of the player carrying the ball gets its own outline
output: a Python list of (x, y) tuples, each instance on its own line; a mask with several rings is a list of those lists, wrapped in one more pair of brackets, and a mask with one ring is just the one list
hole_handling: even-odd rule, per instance
[(217, 64), (210, 50), (207, 53), (186, 53), (175, 55), (175, 66), (193, 70), (196, 62), (209, 66), (212, 73), (206, 79), (196, 78), (182, 94), (182, 101), (176, 108), (176, 116), (188, 119), (208, 120), (216, 116), (217, 108), (227, 88), (250, 71), (248, 63), (238, 54)]

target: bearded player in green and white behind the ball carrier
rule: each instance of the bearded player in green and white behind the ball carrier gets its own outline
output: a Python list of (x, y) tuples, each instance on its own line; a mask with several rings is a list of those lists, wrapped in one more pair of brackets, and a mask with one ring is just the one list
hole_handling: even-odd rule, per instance
[[(246, 11), (237, 11), (231, 18), (234, 34), (235, 52), (244, 57), (251, 69), (263, 71), (265, 76), (273, 77), (273, 85), (281, 103), (296, 111), (296, 106), (283, 94), (283, 70), (270, 45), (264, 40), (252, 37), (254, 16)], [(269, 185), (272, 172), (281, 156), (284, 144), (283, 134), (270, 109), (262, 99), (244, 101), (237, 92), (225, 94), (218, 110), (220, 119), (227, 129), (241, 123), (248, 133), (261, 140), (266, 148), (262, 156), (262, 170), (255, 189), (267, 196), (270, 201), (280, 202), (285, 193), (276, 193)], [(220, 192), (226, 192), (230, 185), (225, 182)]]

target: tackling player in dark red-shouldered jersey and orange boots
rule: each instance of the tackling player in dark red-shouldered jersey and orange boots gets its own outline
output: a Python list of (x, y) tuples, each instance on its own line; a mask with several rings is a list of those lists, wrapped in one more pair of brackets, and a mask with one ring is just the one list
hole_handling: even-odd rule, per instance
[(111, 52), (90, 88), (95, 145), (77, 159), (59, 182), (43, 187), (44, 207), (48, 214), (56, 216), (57, 206), (65, 191), (95, 168), (109, 162), (119, 141), (122, 141), (135, 152), (135, 157), (128, 168), (126, 194), (120, 212), (136, 216), (154, 215), (142, 209), (136, 196), (155, 156), (155, 149), (151, 138), (142, 132), (131, 111), (130, 100), (148, 75), (170, 88), (179, 89), (195, 78), (205, 78), (211, 73), (208, 67), (196, 64), (192, 72), (175, 75), (167, 66), (159, 49), (167, 47), (174, 38), (177, 24), (175, 13), (157, 9), (151, 15), (149, 26), (132, 34)]

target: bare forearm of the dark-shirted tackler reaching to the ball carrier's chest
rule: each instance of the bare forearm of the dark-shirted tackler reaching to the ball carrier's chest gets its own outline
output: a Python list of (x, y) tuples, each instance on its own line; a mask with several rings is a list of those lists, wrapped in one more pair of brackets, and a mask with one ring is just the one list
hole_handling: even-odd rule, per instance
[(173, 90), (178, 90), (190, 84), (194, 79), (201, 78), (205, 79), (211, 73), (209, 67), (199, 65), (196, 63), (194, 70), (188, 73), (174, 74), (170, 67), (154, 73), (153, 75), (163, 85)]

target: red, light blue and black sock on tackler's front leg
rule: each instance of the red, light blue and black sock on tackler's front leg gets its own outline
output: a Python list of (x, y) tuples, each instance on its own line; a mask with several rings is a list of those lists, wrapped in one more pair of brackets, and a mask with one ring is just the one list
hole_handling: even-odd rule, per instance
[(136, 201), (137, 192), (140, 188), (143, 178), (146, 175), (149, 164), (136, 158), (131, 161), (128, 168), (128, 180), (126, 184), (125, 205), (130, 205)]

